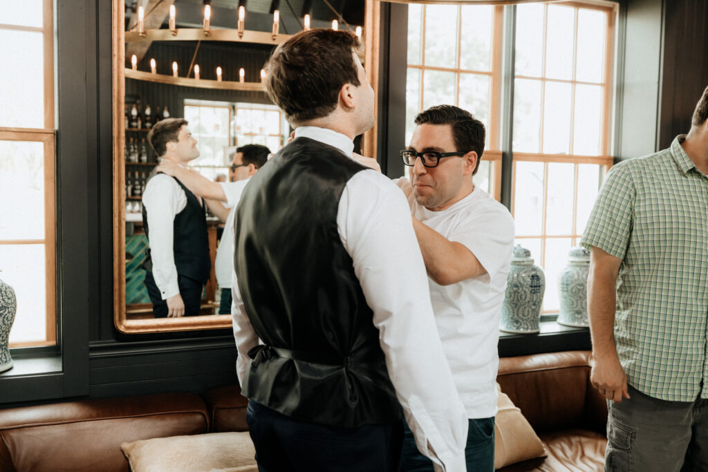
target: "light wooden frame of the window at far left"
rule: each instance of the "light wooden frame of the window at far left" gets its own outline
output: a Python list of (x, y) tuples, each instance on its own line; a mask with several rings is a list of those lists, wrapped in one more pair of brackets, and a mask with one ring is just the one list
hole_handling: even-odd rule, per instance
[(45, 237), (1, 240), (0, 245), (43, 244), (45, 246), (45, 339), (9, 343), (8, 347), (57, 345), (57, 219), (56, 139), (54, 89), (54, 10), (52, 0), (42, 0), (42, 26), (0, 24), (1, 30), (42, 33), (44, 120), (42, 128), (0, 127), (0, 141), (41, 142), (44, 150)]

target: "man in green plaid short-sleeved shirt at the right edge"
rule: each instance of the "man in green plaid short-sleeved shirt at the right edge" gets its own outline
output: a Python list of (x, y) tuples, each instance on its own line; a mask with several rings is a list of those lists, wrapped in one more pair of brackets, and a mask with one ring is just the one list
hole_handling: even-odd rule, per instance
[(708, 88), (687, 135), (607, 173), (581, 244), (605, 471), (708, 471)]

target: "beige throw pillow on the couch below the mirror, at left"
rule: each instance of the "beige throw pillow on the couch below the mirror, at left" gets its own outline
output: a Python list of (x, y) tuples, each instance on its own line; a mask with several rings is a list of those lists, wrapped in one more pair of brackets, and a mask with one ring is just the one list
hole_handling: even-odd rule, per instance
[(258, 472), (248, 432), (215, 432), (124, 442), (132, 472)]

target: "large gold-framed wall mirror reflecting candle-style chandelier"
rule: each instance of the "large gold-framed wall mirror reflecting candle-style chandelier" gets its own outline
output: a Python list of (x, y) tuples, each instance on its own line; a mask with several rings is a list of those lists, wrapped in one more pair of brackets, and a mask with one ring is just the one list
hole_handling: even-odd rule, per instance
[[(369, 4), (370, 1), (367, 0), (367, 9)], [(205, 168), (212, 173), (207, 175), (210, 178), (214, 177), (219, 168), (223, 168), (228, 174), (227, 169), (231, 162), (227, 162), (227, 148), (233, 150), (236, 145), (257, 142), (266, 144), (275, 151), (278, 139), (282, 143), (289, 134), (284, 118), (278, 115), (278, 132), (274, 132), (272, 126), (265, 125), (268, 131), (264, 132), (264, 127), (261, 126), (258, 134), (258, 131), (253, 132), (253, 129), (250, 129), (250, 132), (245, 129), (244, 121), (239, 122), (239, 113), (251, 113), (250, 117), (256, 113), (280, 114), (280, 110), (265, 96), (260, 82), (260, 69), (270, 50), (290, 38), (290, 35), (285, 34), (285, 30), (296, 32), (302, 27), (304, 18), (284, 16), (279, 18), (280, 24), (277, 25), (278, 14), (248, 13), (251, 24), (256, 24), (253, 30), (249, 30), (249, 18), (246, 18), (246, 21), (236, 21), (238, 13), (235, 6), (231, 11), (225, 11), (223, 6), (220, 11), (218, 6), (210, 7), (210, 21), (204, 19), (206, 12), (202, 1), (196, 0), (138, 0), (133, 1), (129, 8), (131, 14), (126, 22), (125, 0), (113, 0), (114, 325), (120, 333), (128, 334), (231, 328), (231, 315), (214, 314), (218, 312), (219, 306), (214, 271), (217, 243), (215, 221), (209, 223), (212, 270), (210, 282), (207, 283), (202, 297), (200, 315), (155, 318), (152, 313), (152, 303), (142, 284), (145, 274), (142, 260), (147, 247), (147, 238), (142, 231), (142, 217), (139, 214), (142, 200), (140, 194), (134, 195), (134, 192), (136, 186), (144, 188), (147, 176), (156, 166), (156, 156), (147, 144), (149, 127), (132, 120), (136, 115), (135, 109), (139, 110), (143, 105), (147, 112), (147, 105), (152, 105), (154, 122), (156, 115), (159, 115), (156, 113), (156, 104), (158, 107), (164, 106), (165, 110), (167, 103), (170, 103), (171, 116), (188, 119), (190, 130), (196, 134), (195, 128), (200, 126), (194, 124), (193, 127), (192, 119), (186, 116), (188, 108), (218, 108), (224, 116), (228, 114), (225, 124), (222, 125), (222, 129), (228, 127), (228, 142), (215, 144), (209, 139), (203, 139), (198, 144), (200, 151), (202, 146), (204, 150), (209, 151), (206, 154), (212, 156), (212, 161), (205, 165), (198, 164), (196, 167)], [(136, 10), (135, 13), (132, 9)], [(178, 18), (183, 14), (183, 18), (187, 19), (179, 23), (171, 20), (170, 15), (174, 15), (171, 11), (176, 11)], [(230, 13), (229, 22), (232, 24), (224, 26), (222, 21), (221, 25), (217, 25), (215, 20), (219, 13)], [(369, 21), (369, 17), (366, 18)], [(271, 21), (272, 30), (270, 23), (267, 23)], [(313, 28), (328, 27), (327, 23), (321, 20), (312, 23)], [(354, 30), (355, 25), (341, 27)], [(365, 28), (366, 30), (368, 28)], [(233, 52), (229, 47), (237, 47), (238, 51)], [(217, 56), (221, 62), (215, 62), (214, 57)], [(245, 66), (245, 73), (244, 67), (241, 67), (243, 64), (236, 64), (243, 60), (250, 61), (247, 62), (250, 66)], [(177, 71), (171, 70), (171, 64), (177, 64)], [(198, 69), (200, 64), (201, 71)], [(219, 67), (215, 67), (216, 64), (220, 64)], [(137, 116), (142, 117), (144, 122), (149, 119), (142, 111), (139, 111)], [(275, 118), (270, 122), (275, 122)], [(372, 139), (375, 137), (374, 133), (368, 133), (362, 141), (362, 149), (370, 152), (370, 155), (373, 155), (371, 153), (372, 144), (375, 142), (375, 139)], [(263, 139), (266, 141), (261, 143), (239, 140), (256, 134), (258, 139), (265, 135)], [(219, 156), (222, 161), (219, 161)]]

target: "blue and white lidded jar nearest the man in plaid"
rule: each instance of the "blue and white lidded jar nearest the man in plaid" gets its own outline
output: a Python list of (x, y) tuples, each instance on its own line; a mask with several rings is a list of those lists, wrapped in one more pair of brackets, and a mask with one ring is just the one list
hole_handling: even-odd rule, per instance
[(583, 247), (572, 248), (568, 265), (559, 278), (558, 297), (561, 311), (558, 323), (565, 326), (590, 326), (588, 322), (588, 272), (590, 251)]

